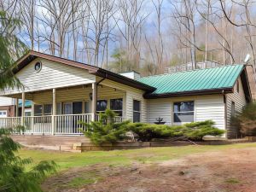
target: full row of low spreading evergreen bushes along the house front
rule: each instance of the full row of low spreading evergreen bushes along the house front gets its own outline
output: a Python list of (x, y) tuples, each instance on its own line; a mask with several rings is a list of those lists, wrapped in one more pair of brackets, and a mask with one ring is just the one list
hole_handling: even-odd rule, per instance
[(214, 127), (212, 120), (189, 123), (185, 125), (155, 125), (147, 123), (114, 123), (113, 111), (107, 109), (105, 113), (100, 113), (99, 121), (90, 122), (84, 126), (89, 127), (89, 131), (82, 131), (85, 137), (89, 137), (92, 143), (101, 145), (102, 143), (116, 143), (126, 138), (125, 133), (131, 131), (137, 135), (137, 139), (149, 142), (153, 139), (166, 139), (172, 137), (183, 137), (194, 141), (201, 141), (206, 135), (220, 136), (223, 130)]

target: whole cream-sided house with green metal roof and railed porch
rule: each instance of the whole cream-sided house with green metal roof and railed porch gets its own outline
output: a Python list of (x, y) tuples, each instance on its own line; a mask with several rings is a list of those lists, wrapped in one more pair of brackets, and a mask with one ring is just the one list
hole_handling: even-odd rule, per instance
[[(28, 134), (79, 135), (79, 120), (90, 122), (106, 108), (116, 121), (181, 125), (212, 119), (224, 137), (237, 137), (230, 118), (252, 101), (244, 65), (230, 65), (140, 78), (139, 74), (112, 73), (52, 55), (30, 51), (14, 70), (21, 90), (0, 96), (21, 99), (21, 117), (0, 118), (0, 126), (25, 125)], [(26, 100), (32, 116), (26, 117)], [(17, 107), (16, 107), (17, 108)]]

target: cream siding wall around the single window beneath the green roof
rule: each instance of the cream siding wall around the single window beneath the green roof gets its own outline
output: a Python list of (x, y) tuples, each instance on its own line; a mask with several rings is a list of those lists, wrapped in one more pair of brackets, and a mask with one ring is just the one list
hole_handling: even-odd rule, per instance
[(163, 118), (167, 125), (173, 123), (173, 102), (195, 102), (195, 121), (212, 119), (219, 129), (225, 129), (224, 96), (187, 96), (148, 100), (148, 123), (154, 123), (158, 117)]

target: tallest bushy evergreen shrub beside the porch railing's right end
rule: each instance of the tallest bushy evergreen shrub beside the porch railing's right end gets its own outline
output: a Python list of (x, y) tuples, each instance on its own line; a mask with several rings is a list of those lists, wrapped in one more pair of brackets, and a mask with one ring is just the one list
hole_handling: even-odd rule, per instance
[(124, 140), (126, 138), (126, 125), (129, 121), (114, 123), (113, 118), (115, 116), (113, 111), (107, 109), (105, 113), (100, 113), (99, 121), (92, 121), (90, 124), (79, 122), (88, 127), (88, 131), (82, 131), (84, 136), (89, 137), (90, 141), (96, 145)]

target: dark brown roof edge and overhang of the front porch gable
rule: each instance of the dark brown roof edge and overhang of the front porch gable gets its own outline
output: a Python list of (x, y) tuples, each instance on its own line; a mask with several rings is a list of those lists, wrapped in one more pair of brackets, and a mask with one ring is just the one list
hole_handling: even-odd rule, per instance
[(47, 55), (44, 53), (40, 53), (37, 51), (29, 51), (26, 55), (22, 56), (20, 60), (16, 62), (16, 67), (14, 68), (14, 73), (18, 73), (22, 68), (26, 67), (30, 62), (34, 61), (37, 58), (43, 58), (49, 61), (55, 61), (59, 62), (63, 65), (73, 66), (73, 67), (79, 67), (85, 70), (88, 70), (90, 74), (94, 74), (96, 76), (102, 77), (104, 79), (113, 80), (115, 82), (118, 82), (120, 84), (126, 84), (128, 86), (137, 88), (139, 90), (144, 90), (146, 92), (152, 92), (156, 90), (154, 87), (149, 86), (148, 84), (143, 84), (141, 82), (138, 82), (134, 79), (126, 78), (123, 75), (119, 75), (117, 73), (110, 72), (106, 69), (102, 69), (101, 67), (95, 67), (88, 64), (84, 64), (78, 61), (71, 61), (67, 60), (61, 57), (53, 56), (53, 55)]

